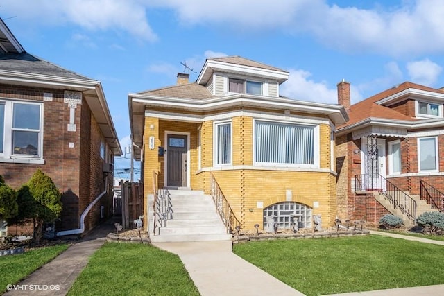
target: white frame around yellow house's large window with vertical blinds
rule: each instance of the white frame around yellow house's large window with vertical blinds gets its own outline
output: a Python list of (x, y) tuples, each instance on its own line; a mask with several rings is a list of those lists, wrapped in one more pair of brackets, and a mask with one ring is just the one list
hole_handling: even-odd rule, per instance
[[(282, 164), (275, 162), (257, 162), (256, 161), (256, 122), (266, 121), (270, 123), (282, 123), (287, 125), (305, 125), (313, 128), (313, 164)], [(299, 123), (293, 121), (273, 121), (266, 119), (254, 119), (253, 120), (253, 165), (254, 166), (268, 166), (268, 167), (281, 167), (281, 168), (320, 168), (319, 154), (321, 147), (319, 145), (319, 125), (312, 125), (306, 123)]]

